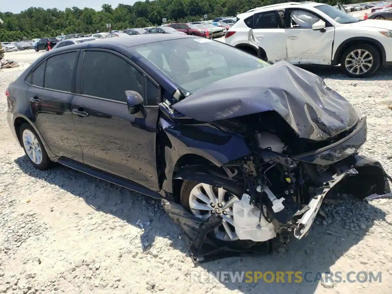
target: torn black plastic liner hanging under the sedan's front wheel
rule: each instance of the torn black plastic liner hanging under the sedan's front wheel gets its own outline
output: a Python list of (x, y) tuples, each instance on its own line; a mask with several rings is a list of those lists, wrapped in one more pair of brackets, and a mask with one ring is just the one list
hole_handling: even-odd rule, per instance
[(209, 232), (221, 225), (219, 217), (211, 216), (202, 222), (176, 203), (162, 200), (163, 209), (171, 219), (179, 225), (184, 235), (189, 239), (189, 250), (194, 263), (204, 263), (222, 258), (235, 256), (250, 256), (272, 253), (271, 242), (255, 243), (249, 242), (249, 247), (243, 249), (232, 249), (220, 246), (209, 237)]

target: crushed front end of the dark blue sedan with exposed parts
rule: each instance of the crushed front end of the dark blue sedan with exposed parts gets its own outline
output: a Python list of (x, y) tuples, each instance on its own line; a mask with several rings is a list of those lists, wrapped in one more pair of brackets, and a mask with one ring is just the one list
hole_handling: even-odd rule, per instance
[(358, 154), (366, 141), (366, 117), (332, 139), (315, 142), (288, 137), (284, 125), (262, 123), (266, 116), (274, 121), (269, 115), (215, 122), (237, 132), (241, 123), (247, 125), (242, 130), (252, 155), (224, 165), (228, 174), (243, 176), (242, 198), (249, 198), (234, 204), (234, 227), (240, 239), (267, 241), (274, 234), (282, 243), (292, 236), (301, 239), (326, 197), (344, 193), (363, 199), (390, 192), (382, 165)]

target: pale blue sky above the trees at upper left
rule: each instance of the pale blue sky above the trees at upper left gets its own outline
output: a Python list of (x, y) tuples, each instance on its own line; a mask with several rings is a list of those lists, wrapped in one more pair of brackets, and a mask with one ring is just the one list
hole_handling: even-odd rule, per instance
[(66, 7), (89, 7), (96, 10), (101, 10), (102, 4), (110, 4), (113, 8), (116, 8), (119, 3), (132, 5), (137, 0), (0, 0), (0, 11), (1, 12), (12, 12), (20, 13), (31, 6), (42, 7), (42, 8), (57, 8), (64, 10)]

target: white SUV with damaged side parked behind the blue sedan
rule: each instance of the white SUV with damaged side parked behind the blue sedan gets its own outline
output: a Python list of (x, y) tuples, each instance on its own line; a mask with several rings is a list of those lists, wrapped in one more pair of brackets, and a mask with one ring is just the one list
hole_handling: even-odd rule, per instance
[(392, 65), (392, 22), (358, 20), (339, 8), (316, 2), (258, 7), (237, 16), (225, 43), (272, 63), (341, 64), (350, 77)]

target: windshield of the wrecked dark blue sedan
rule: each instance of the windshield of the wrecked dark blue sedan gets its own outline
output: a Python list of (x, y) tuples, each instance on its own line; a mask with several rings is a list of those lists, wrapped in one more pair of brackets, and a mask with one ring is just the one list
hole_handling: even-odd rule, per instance
[(249, 53), (206, 38), (181, 38), (132, 48), (189, 94), (213, 82), (270, 65)]

